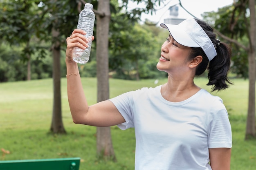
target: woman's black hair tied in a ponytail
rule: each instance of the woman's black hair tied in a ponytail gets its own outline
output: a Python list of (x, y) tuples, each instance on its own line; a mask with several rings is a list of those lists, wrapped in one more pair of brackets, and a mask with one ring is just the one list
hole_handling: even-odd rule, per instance
[[(224, 42), (218, 42), (216, 40), (216, 34), (213, 33), (213, 29), (206, 22), (195, 19), (198, 24), (202, 27), (205, 33), (209, 36), (213, 45), (216, 47), (217, 55), (209, 62), (207, 55), (204, 51), (199, 48), (191, 48), (190, 60), (194, 57), (201, 55), (202, 62), (198, 65), (195, 71), (195, 75), (201, 75), (206, 69), (208, 69), (208, 86), (212, 86), (212, 91), (225, 90), (229, 87), (228, 84), (232, 82), (227, 77), (231, 64), (231, 49), (229, 45)], [(207, 68), (208, 66), (208, 68)]]

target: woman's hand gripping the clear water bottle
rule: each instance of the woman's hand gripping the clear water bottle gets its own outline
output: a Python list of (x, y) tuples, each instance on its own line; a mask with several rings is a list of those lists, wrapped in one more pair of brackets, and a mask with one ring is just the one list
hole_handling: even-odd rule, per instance
[[(67, 37), (67, 50), (66, 50), (66, 62), (74, 62), (72, 59), (73, 50), (75, 47), (80, 49), (86, 49), (88, 47), (89, 38), (86, 38), (85, 31), (81, 29), (74, 29), (72, 34)], [(92, 35), (92, 40), (94, 40), (94, 36)]]

